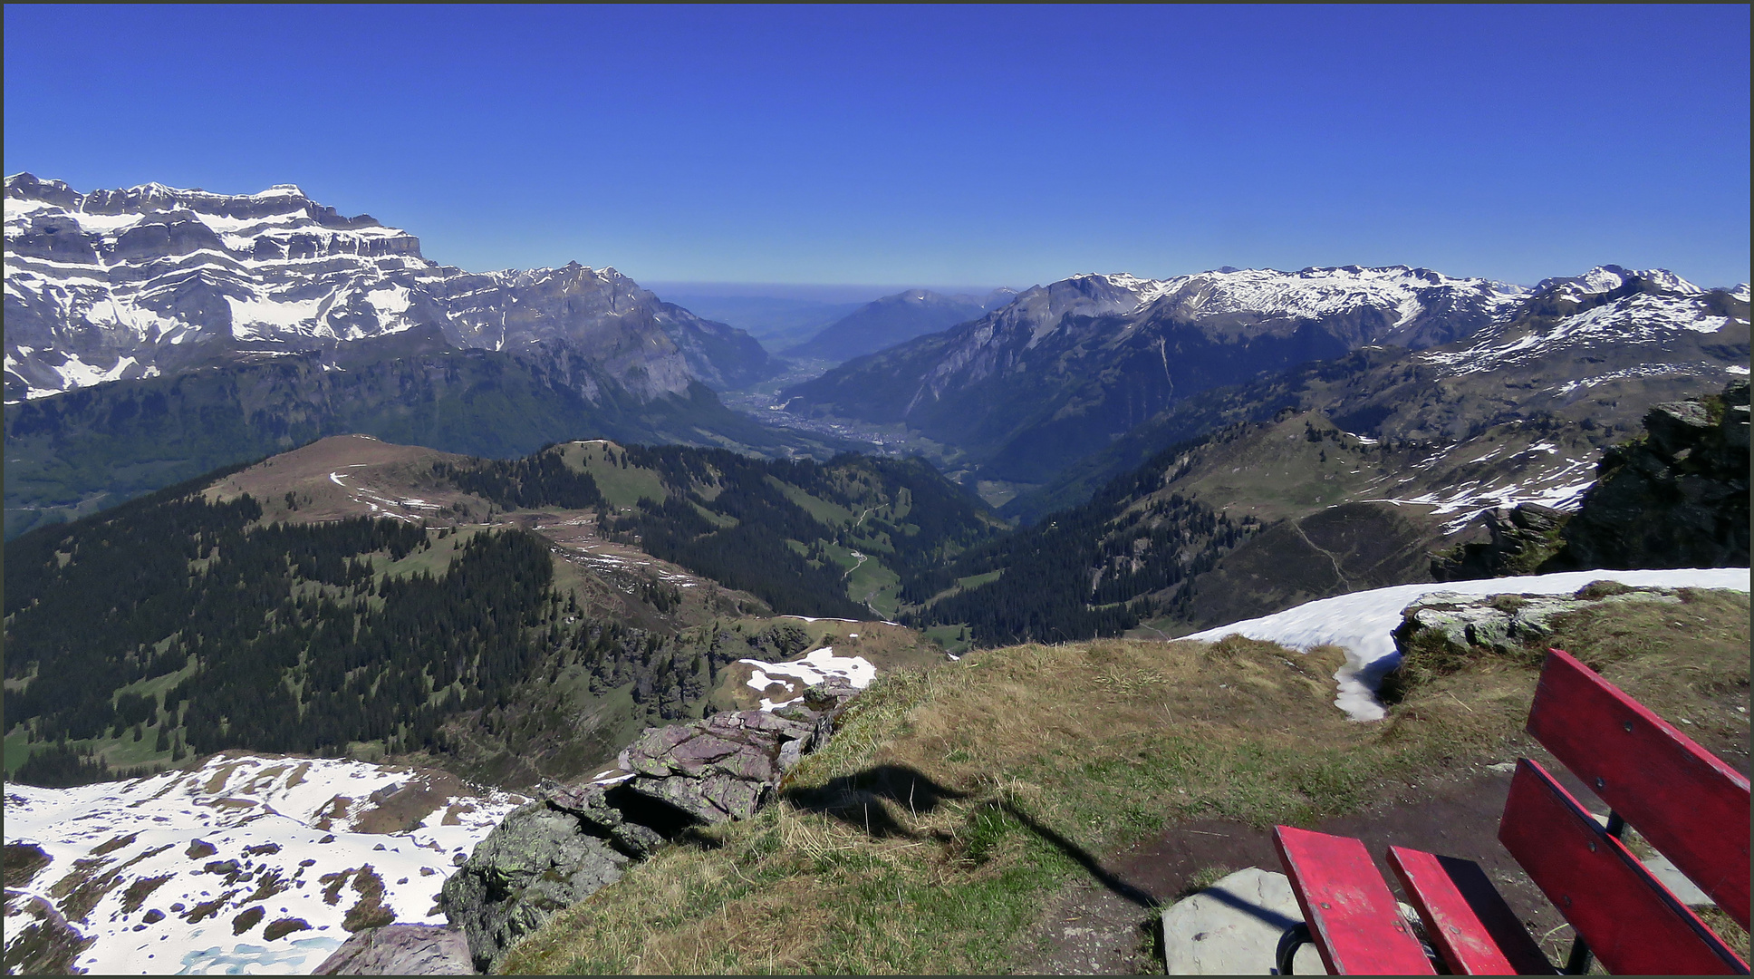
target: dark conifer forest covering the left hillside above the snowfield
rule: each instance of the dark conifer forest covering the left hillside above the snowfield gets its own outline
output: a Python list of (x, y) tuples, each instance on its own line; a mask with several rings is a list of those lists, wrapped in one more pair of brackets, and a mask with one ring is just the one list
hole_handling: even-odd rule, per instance
[(174, 754), (419, 747), (503, 700), (560, 612), (526, 532), (260, 516), (182, 497), (9, 544), (7, 723)]

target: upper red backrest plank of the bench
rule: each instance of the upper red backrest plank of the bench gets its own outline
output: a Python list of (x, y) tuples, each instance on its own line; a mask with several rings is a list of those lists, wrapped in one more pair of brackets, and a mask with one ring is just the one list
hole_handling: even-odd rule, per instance
[(1572, 654), (1552, 649), (1528, 732), (1749, 925), (1749, 779)]

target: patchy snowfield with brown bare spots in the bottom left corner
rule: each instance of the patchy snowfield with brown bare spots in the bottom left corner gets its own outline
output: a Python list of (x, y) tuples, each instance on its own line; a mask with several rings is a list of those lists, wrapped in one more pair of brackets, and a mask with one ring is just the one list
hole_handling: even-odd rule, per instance
[[(67, 790), (5, 786), (7, 940), (47, 902), (95, 974), (305, 975), (361, 921), (444, 925), (438, 886), (521, 805), (449, 774), (221, 753), (198, 768)], [(351, 918), (351, 921), (349, 921)]]

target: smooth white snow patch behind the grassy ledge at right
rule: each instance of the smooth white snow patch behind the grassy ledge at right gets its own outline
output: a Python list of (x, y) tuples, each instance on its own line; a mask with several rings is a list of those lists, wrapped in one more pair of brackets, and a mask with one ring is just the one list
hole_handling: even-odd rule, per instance
[(1566, 595), (1591, 581), (1749, 591), (1749, 568), (1582, 570), (1487, 577), (1479, 581), (1396, 584), (1321, 598), (1272, 616), (1196, 632), (1184, 639), (1216, 642), (1226, 635), (1242, 635), (1301, 649), (1340, 646), (1345, 649), (1345, 667), (1333, 677), (1338, 684), (1335, 707), (1340, 707), (1356, 721), (1379, 721), (1384, 718), (1384, 711), (1375, 697), (1375, 681), (1400, 663), (1400, 653), (1394, 649), (1394, 637), (1391, 633), (1401, 623), (1401, 609), (1407, 605), (1437, 593)]

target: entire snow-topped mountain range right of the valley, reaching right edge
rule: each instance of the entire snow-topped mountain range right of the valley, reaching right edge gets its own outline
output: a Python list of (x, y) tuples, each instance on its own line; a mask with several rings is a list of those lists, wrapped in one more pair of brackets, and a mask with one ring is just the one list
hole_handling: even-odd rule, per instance
[[(779, 400), (807, 418), (902, 425), (945, 446), (940, 463), (965, 482), (1010, 486), (1000, 493), (1009, 497), (1051, 490), (1080, 460), (1205, 391), (1352, 351), (1384, 351), (1373, 361), (1424, 351), (1396, 370), (1477, 388), (1468, 409), (1426, 405), (1419, 386), (1379, 389), (1358, 402), (1354, 414), (1365, 414), (1349, 416), (1359, 432), (1391, 416), (1408, 432), (1422, 432), (1415, 416), (1442, 416), (1454, 432), (1477, 423), (1475, 411), (1554, 411), (1601, 384), (1721, 386), (1747, 370), (1747, 286), (1700, 289), (1663, 270), (1601, 267), (1535, 288), (1407, 267), (1073, 275), (847, 361)], [(1517, 374), (1515, 388), (1500, 382), (1505, 370)], [(1166, 444), (1133, 453), (1131, 465)]]

